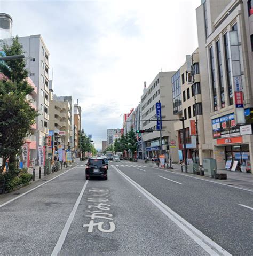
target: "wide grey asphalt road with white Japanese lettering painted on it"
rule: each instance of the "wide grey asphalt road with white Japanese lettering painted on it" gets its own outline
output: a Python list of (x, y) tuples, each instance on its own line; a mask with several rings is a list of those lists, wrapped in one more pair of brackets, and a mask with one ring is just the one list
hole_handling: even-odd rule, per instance
[(253, 254), (252, 192), (128, 162), (85, 181), (81, 165), (0, 205), (0, 255)]

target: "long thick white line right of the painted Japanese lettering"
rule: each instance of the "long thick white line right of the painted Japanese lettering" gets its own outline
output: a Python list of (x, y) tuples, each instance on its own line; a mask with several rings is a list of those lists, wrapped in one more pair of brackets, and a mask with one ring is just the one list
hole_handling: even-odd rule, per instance
[[(137, 190), (139, 190), (149, 201), (151, 201), (159, 210), (161, 210), (169, 219), (171, 219), (179, 228), (181, 228), (189, 237), (191, 237), (197, 244), (199, 244), (210, 255), (230, 255), (229, 252), (224, 250), (221, 246), (216, 244), (212, 239), (205, 236), (200, 230), (196, 229), (192, 224), (183, 219), (176, 212), (171, 210), (167, 205), (163, 204), (159, 199), (154, 197), (146, 189), (141, 187), (137, 182), (133, 181), (129, 176), (121, 172), (120, 169), (114, 167), (129, 183), (131, 183)], [(212, 247), (211, 247), (212, 246)], [(216, 251), (215, 251), (215, 250)]]

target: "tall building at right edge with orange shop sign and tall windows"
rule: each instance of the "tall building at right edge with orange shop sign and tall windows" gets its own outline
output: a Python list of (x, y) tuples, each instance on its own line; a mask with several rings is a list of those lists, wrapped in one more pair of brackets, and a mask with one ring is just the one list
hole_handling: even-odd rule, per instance
[(252, 14), (250, 0), (203, 0), (196, 10), (204, 123), (212, 125), (205, 140), (219, 169), (238, 161), (252, 172)]

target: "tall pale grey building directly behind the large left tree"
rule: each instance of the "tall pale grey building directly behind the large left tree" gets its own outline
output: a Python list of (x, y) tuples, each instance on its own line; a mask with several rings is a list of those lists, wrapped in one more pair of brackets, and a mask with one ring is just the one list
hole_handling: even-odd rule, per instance
[[(49, 131), (49, 51), (41, 35), (19, 37), (19, 42), (25, 51), (29, 77), (38, 91), (34, 99), (40, 115), (36, 119), (38, 125), (34, 135), (36, 145), (43, 146)], [(38, 159), (38, 149), (31, 152), (31, 158)]]

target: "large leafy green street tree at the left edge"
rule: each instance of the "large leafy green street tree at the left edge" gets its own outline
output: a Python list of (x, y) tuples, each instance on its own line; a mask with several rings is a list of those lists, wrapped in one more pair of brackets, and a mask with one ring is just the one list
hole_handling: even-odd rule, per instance
[[(3, 44), (7, 56), (24, 53), (18, 37), (12, 38), (12, 44)], [(0, 155), (5, 162), (9, 159), (9, 169), (17, 166), (17, 154), (25, 137), (30, 134), (30, 127), (36, 122), (37, 111), (31, 107), (26, 95), (34, 89), (27, 81), (28, 71), (25, 59), (0, 61)]]

